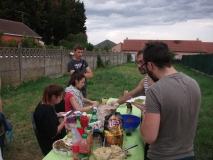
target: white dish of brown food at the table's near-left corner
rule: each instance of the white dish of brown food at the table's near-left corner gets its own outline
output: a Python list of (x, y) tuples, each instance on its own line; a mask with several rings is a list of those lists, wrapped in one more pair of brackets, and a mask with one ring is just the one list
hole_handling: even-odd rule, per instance
[(57, 154), (63, 155), (64, 152), (62, 150), (68, 150), (67, 151), (68, 156), (73, 156), (72, 149), (71, 149), (72, 145), (71, 146), (66, 145), (64, 139), (55, 141), (53, 143), (52, 147), (53, 147), (54, 152)]

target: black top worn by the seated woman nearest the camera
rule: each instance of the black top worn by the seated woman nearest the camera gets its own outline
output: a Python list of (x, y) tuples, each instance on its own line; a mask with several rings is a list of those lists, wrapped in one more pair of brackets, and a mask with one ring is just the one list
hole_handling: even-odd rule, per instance
[(41, 140), (48, 151), (52, 150), (52, 144), (66, 135), (65, 128), (55, 137), (59, 120), (52, 106), (38, 104), (34, 113), (35, 123)]

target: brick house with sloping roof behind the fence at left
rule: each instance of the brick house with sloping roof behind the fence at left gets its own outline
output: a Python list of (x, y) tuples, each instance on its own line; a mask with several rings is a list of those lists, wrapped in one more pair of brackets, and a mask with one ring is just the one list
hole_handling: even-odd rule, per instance
[(21, 42), (24, 35), (34, 37), (35, 43), (42, 38), (24, 23), (0, 19), (0, 32), (3, 33), (3, 41), (15, 40)]

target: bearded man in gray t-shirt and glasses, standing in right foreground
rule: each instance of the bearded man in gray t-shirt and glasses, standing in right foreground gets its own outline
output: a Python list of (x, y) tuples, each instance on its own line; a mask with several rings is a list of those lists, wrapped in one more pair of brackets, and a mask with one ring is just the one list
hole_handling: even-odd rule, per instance
[(147, 43), (143, 62), (156, 82), (146, 92), (146, 111), (140, 108), (141, 133), (150, 144), (147, 160), (195, 160), (193, 142), (201, 104), (197, 82), (173, 68), (165, 43)]

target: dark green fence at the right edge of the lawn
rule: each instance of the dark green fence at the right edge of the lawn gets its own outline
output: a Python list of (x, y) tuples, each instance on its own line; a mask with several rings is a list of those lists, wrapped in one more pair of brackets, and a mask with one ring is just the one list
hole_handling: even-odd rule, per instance
[(213, 54), (184, 55), (182, 63), (208, 75), (213, 75)]

